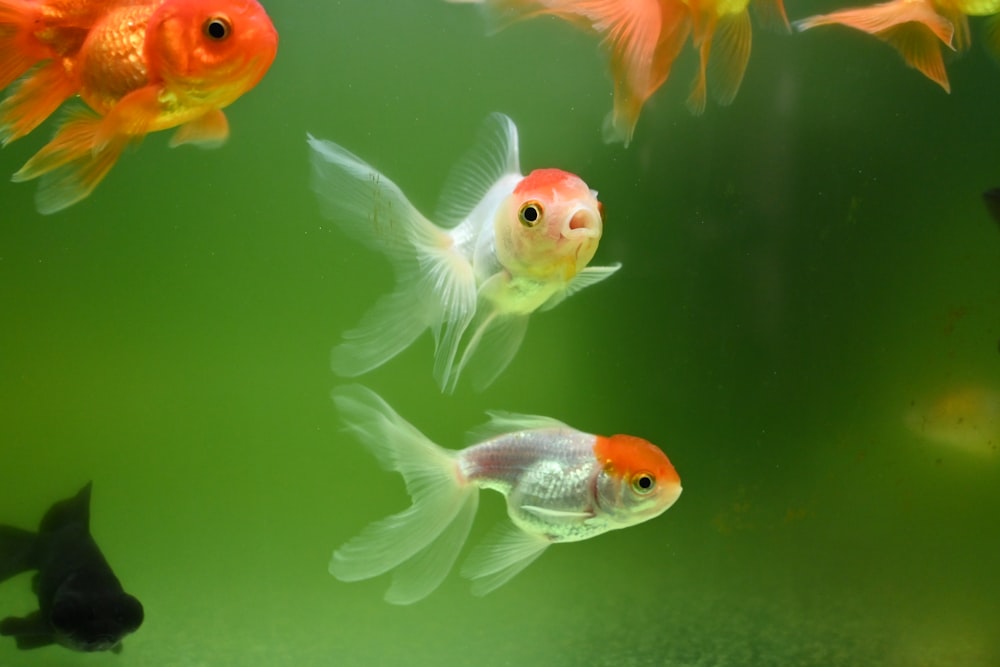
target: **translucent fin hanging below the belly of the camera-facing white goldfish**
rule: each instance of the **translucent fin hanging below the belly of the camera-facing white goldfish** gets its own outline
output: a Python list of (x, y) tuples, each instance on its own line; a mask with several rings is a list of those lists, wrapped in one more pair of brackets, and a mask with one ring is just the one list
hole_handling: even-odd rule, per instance
[(469, 329), (472, 335), (463, 340), (462, 357), (454, 365), (445, 391), (455, 390), (459, 376), (466, 369), (476, 391), (492, 384), (520, 349), (528, 330), (528, 316), (501, 315), (495, 310), (486, 315), (480, 312)]

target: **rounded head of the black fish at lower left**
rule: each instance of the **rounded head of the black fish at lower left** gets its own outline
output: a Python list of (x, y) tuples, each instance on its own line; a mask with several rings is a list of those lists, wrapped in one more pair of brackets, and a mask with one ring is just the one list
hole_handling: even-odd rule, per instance
[(142, 604), (124, 592), (61, 590), (49, 612), (56, 640), (75, 651), (114, 650), (135, 632), (144, 617)]

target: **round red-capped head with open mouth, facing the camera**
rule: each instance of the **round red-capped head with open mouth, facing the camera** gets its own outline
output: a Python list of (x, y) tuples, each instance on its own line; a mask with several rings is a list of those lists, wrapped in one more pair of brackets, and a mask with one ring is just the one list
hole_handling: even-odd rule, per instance
[(497, 259), (515, 277), (569, 281), (593, 259), (603, 231), (604, 208), (579, 176), (536, 169), (497, 213)]

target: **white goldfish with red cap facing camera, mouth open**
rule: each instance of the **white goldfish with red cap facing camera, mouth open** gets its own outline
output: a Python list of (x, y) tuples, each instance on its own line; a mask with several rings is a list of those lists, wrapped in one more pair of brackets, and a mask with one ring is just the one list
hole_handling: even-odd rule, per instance
[(396, 290), (333, 350), (340, 375), (381, 366), (430, 329), (442, 391), (453, 391), (467, 366), (483, 388), (517, 353), (532, 313), (620, 266), (588, 266), (604, 229), (597, 193), (561, 169), (522, 175), (517, 128), (503, 114), (487, 119), (455, 166), (437, 224), (361, 158), (312, 135), (308, 142), (326, 217), (384, 252), (396, 272)]

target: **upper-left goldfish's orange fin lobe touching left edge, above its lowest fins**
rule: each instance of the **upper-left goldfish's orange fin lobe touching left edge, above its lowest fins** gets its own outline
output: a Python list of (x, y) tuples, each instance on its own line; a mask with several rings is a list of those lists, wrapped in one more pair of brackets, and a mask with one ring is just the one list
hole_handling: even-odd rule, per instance
[(58, 62), (32, 73), (0, 103), (0, 143), (7, 145), (31, 132), (76, 92), (76, 83)]

